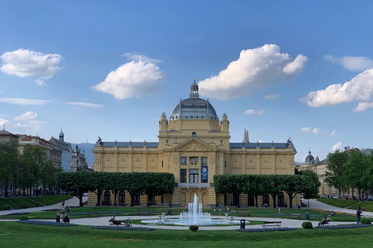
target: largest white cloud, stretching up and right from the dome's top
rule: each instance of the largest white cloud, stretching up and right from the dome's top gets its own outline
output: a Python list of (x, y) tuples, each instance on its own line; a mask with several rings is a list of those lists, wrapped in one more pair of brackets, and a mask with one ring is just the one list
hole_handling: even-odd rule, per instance
[(242, 50), (228, 67), (198, 83), (199, 93), (219, 100), (250, 94), (251, 88), (266, 88), (284, 81), (304, 67), (307, 57), (299, 54), (294, 60), (280, 53), (275, 44)]

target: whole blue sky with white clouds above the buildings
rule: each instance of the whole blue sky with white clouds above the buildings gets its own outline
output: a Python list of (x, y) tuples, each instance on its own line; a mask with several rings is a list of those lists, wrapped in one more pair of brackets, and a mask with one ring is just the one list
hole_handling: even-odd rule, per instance
[(372, 1), (1, 1), (0, 124), (157, 142), (193, 79), (231, 142), (372, 148)]

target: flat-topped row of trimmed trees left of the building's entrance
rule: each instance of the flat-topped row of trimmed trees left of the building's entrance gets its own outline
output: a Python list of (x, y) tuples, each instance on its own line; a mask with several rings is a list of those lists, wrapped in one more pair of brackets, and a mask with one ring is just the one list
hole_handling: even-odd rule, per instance
[(116, 205), (117, 194), (127, 191), (131, 196), (131, 206), (137, 194), (148, 197), (148, 206), (151, 199), (162, 194), (172, 194), (175, 177), (172, 173), (159, 172), (102, 172), (102, 171), (76, 171), (57, 173), (57, 185), (61, 189), (73, 191), (79, 198), (82, 206), (83, 194), (87, 191), (97, 195), (97, 206), (100, 206), (104, 190), (114, 194)]

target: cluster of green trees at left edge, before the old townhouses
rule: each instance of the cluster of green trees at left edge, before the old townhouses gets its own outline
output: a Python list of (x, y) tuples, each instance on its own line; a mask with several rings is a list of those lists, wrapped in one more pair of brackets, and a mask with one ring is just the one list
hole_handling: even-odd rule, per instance
[[(17, 141), (0, 143), (0, 180), (3, 183), (5, 197), (12, 192), (25, 196), (25, 191), (38, 195), (39, 187), (43, 191), (56, 185), (56, 173), (62, 168), (53, 167), (49, 160), (49, 151), (40, 147), (25, 145), (22, 151)], [(12, 191), (9, 184), (12, 184)], [(34, 189), (34, 190), (32, 190)]]

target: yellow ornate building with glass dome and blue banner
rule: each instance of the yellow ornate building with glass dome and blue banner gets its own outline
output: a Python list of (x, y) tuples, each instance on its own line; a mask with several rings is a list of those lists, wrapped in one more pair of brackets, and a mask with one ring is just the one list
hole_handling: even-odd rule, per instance
[[(216, 114), (209, 100), (199, 97), (198, 85), (190, 88), (188, 99), (180, 99), (167, 119), (162, 113), (159, 120), (158, 142), (103, 142), (98, 138), (93, 152), (95, 171), (169, 172), (175, 175), (172, 195), (156, 197), (155, 202), (169, 202), (185, 206), (194, 194), (205, 207), (223, 203), (231, 205), (230, 194), (214, 192), (213, 176), (217, 174), (294, 174), (294, 155), (297, 153), (290, 138), (286, 143), (229, 142), (229, 120)], [(245, 141), (248, 141), (245, 132)], [(104, 200), (113, 194), (106, 191)], [(272, 197), (258, 197), (258, 204), (272, 204)], [(270, 199), (271, 198), (271, 199)], [(96, 195), (90, 193), (88, 204), (95, 204)], [(130, 202), (129, 194), (122, 192), (117, 202)], [(254, 197), (241, 194), (241, 206), (254, 206)], [(279, 194), (279, 203), (289, 202)], [(147, 204), (147, 196), (135, 197), (135, 203)], [(294, 198), (293, 204), (300, 199)]]

